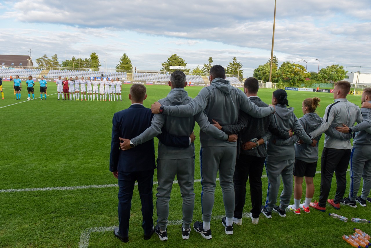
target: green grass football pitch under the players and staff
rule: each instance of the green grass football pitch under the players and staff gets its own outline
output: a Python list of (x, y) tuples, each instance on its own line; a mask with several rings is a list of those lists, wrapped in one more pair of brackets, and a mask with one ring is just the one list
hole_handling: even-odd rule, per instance
[[(233, 235), (225, 235), (221, 225), (224, 206), (217, 184), (213, 209), (216, 218), (211, 222), (213, 239), (203, 239), (192, 231), (190, 239), (184, 241), (181, 239), (181, 222), (178, 221), (182, 217), (180, 190), (174, 184), (169, 240), (162, 242), (157, 235), (149, 241), (143, 239), (141, 206), (135, 189), (129, 242), (124, 244), (112, 232), (112, 227), (118, 225), (118, 187), (114, 185), (117, 180), (109, 172), (108, 165), (112, 116), (130, 105), (127, 98), (129, 86), (122, 87), (122, 102), (57, 101), (53, 83), (49, 83), (46, 101), (37, 98), (40, 97), (37, 91), (34, 101), (25, 101), (25, 91), (22, 91), (22, 100), (16, 101), (12, 83), (4, 82), (3, 88), (5, 99), (0, 100), (0, 247), (350, 247), (341, 239), (343, 234), (349, 235), (354, 227), (371, 232), (369, 224), (344, 223), (328, 216), (328, 213), (335, 212), (349, 219), (371, 219), (370, 204), (356, 209), (342, 206), (340, 210), (327, 206), (325, 213), (313, 209), (311, 213), (301, 215), (287, 212), (286, 218), (277, 213), (273, 213), (272, 219), (261, 215), (259, 225), (252, 225), (250, 218), (244, 218), (242, 226), (234, 226)], [(37, 83), (35, 89), (38, 89)], [(148, 86), (147, 89), (146, 107), (166, 96), (170, 90), (167, 86)], [(200, 89), (186, 87), (191, 97), (196, 96)], [(262, 89), (258, 94), (263, 101), (270, 103), (272, 90)], [(302, 100), (313, 96), (321, 98), (322, 106), (318, 112), (323, 116), (325, 107), (333, 101), (332, 94), (288, 91), (289, 104), (295, 107), (298, 117), (302, 116)], [(360, 105), (359, 96), (349, 96), (348, 99)], [(198, 131), (196, 125), (195, 133)], [(200, 179), (198, 139), (195, 144), (197, 180)], [(323, 138), (320, 153), (322, 147)], [(156, 173), (154, 181), (157, 181)], [(265, 199), (267, 179), (262, 178), (262, 181)], [(92, 185), (97, 187), (80, 187)], [(62, 188), (35, 190), (46, 187)], [(313, 201), (318, 200), (319, 187), (318, 174)], [(334, 196), (335, 187), (333, 180), (330, 197)], [(155, 202), (156, 185), (153, 191)], [(245, 213), (249, 213), (251, 207), (247, 191)], [(195, 193), (193, 221), (201, 220), (199, 182), (195, 183)]]

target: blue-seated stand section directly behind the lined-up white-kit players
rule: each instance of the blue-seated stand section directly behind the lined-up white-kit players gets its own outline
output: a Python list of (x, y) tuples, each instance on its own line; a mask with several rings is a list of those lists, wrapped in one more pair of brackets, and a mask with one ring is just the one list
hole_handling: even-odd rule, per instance
[(63, 71), (63, 70), (50, 70), (49, 73), (46, 75), (47, 78), (58, 78), (58, 76), (63, 77), (118, 77), (120, 80), (126, 80), (127, 74), (123, 72), (102, 72), (102, 71)]

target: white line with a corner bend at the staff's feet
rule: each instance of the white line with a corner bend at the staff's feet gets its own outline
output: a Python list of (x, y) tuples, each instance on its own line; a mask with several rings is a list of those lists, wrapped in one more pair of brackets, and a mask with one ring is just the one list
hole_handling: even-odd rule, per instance
[[(221, 220), (224, 217), (224, 215), (218, 215), (218, 216), (211, 216), (212, 220)], [(243, 213), (242, 218), (250, 218), (250, 212)], [(181, 225), (183, 223), (183, 220), (170, 220), (168, 222), (168, 226), (174, 226), (174, 225)], [(93, 228), (87, 228), (85, 229), (80, 236), (80, 242), (79, 242), (79, 248), (88, 248), (89, 247), (89, 239), (90, 235), (93, 232), (108, 232), (108, 231), (114, 231), (114, 229), (118, 226), (100, 226), (100, 227), (93, 227)]]

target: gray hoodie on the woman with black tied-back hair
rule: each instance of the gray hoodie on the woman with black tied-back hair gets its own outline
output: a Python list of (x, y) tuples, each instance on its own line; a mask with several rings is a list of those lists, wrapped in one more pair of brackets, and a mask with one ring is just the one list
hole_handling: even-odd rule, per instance
[[(302, 125), (299, 123), (298, 118), (294, 114), (293, 107), (286, 107), (286, 105), (277, 104), (276, 106), (275, 121), (277, 125), (285, 131), (292, 131), (299, 136), (299, 138), (306, 144), (312, 144), (312, 139), (304, 131)], [(276, 139), (272, 136), (267, 142), (267, 158), (265, 161), (285, 161), (295, 158), (294, 144), (277, 146), (273, 143)]]

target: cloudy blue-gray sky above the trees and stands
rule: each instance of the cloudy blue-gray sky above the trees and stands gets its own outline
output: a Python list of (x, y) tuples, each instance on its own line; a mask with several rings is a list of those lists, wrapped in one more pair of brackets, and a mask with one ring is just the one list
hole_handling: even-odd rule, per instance
[[(273, 13), (274, 0), (4, 0), (0, 54), (31, 48), (33, 61), (58, 54), (61, 62), (95, 51), (102, 68), (105, 57), (114, 68), (126, 53), (139, 70), (160, 70), (171, 54), (187, 68), (237, 57), (249, 77), (270, 58)], [(371, 65), (370, 13), (370, 0), (277, 0), (274, 54), (279, 63), (304, 59), (308, 71), (316, 59), (320, 69)]]

